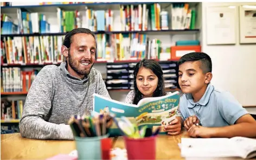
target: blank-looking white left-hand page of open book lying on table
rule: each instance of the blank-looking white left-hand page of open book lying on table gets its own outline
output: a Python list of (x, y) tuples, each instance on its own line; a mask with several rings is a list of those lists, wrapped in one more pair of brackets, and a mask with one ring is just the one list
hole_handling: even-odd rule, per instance
[(182, 138), (182, 157), (241, 157), (228, 138)]

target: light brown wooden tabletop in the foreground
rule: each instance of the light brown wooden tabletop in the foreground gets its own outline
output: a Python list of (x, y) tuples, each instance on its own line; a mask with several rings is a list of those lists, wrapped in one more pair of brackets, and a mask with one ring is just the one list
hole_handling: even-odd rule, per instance
[[(188, 137), (186, 131), (178, 136), (159, 135), (156, 158), (184, 159), (178, 148), (182, 137)], [(114, 147), (124, 148), (123, 137), (118, 137)], [(69, 154), (73, 150), (74, 141), (29, 139), (20, 134), (1, 135), (1, 159), (46, 159), (58, 154)]]

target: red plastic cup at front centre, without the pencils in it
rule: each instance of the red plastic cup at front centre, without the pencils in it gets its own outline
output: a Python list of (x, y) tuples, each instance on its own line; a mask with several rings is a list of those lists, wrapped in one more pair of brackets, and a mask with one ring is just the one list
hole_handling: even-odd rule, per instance
[(156, 159), (156, 136), (124, 140), (128, 159)]

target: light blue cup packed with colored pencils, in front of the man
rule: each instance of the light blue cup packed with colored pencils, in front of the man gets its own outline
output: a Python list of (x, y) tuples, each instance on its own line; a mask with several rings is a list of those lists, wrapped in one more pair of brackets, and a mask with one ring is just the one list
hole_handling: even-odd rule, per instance
[(69, 125), (74, 134), (78, 159), (110, 159), (108, 131), (113, 118), (108, 114), (72, 116)]

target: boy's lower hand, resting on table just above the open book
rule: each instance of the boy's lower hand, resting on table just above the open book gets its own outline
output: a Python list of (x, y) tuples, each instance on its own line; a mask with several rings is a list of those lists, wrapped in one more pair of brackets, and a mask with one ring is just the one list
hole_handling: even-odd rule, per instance
[(213, 135), (213, 128), (208, 128), (200, 125), (193, 124), (191, 128), (188, 130), (188, 134), (190, 137), (201, 137), (201, 138), (210, 138)]

